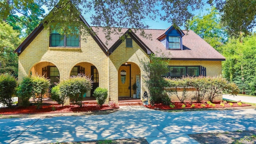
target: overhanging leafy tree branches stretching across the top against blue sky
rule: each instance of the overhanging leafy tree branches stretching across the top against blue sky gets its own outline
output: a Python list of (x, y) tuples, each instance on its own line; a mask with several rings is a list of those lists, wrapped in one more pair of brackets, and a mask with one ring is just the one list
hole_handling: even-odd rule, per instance
[[(48, 10), (56, 6), (56, 9), (52, 10), (54, 14), (44, 21), (47, 28), (52, 25), (54, 28), (56, 26), (62, 28), (64, 24), (70, 24), (72, 27), (80, 26), (77, 16), (81, 12), (91, 15), (92, 25), (104, 26), (106, 34), (120, 33), (120, 29), (113, 30), (110, 27), (148, 28), (145, 21), (158, 18), (178, 28), (184, 26), (186, 21), (194, 16), (193, 11), (199, 10), (206, 3), (216, 6), (221, 13), (223, 24), (234, 35), (238, 35), (237, 32), (240, 31), (248, 34), (255, 26), (256, 16), (256, 3), (249, 0), (60, 0), (60, 2), (59, 0), (2, 0), (0, 18), (6, 19), (33, 2), (38, 6), (45, 5)], [(64, 15), (60, 15), (62, 12)], [(58, 21), (54, 18), (62, 18), (62, 20)], [(63, 18), (67, 22), (63, 22)], [(68, 30), (64, 29), (64, 32)], [(145, 35), (143, 31), (140, 34)]]

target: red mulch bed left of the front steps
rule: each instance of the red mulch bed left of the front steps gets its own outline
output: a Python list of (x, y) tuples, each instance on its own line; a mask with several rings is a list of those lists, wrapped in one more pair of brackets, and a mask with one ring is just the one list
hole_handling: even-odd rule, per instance
[(62, 106), (58, 104), (43, 105), (42, 108), (37, 109), (36, 106), (22, 107), (17, 106), (14, 108), (0, 108), (0, 114), (35, 114), (35, 113), (63, 113), (63, 112), (89, 112), (98, 110), (114, 110), (118, 109), (116, 106), (110, 108), (108, 105), (98, 106), (97, 104), (84, 104), (82, 107), (78, 105)]

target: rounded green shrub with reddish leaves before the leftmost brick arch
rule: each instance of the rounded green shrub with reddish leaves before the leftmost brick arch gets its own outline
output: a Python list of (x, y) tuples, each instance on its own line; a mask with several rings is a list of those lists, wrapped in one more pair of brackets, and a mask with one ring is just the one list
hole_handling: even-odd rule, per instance
[(37, 108), (41, 108), (43, 96), (49, 87), (50, 80), (44, 78), (44, 76), (24, 77), (17, 88), (17, 95), (22, 99), (22, 106), (28, 106), (30, 104), (29, 98), (32, 97)]

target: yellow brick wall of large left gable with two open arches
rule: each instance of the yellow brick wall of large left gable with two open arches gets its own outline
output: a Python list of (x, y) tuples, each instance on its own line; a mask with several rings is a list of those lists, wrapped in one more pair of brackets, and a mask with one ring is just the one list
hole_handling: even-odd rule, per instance
[[(86, 42), (83, 38), (86, 38)], [(96, 66), (99, 72), (99, 86), (108, 88), (108, 56), (91, 36), (83, 38), (80, 40), (80, 48), (49, 47), (48, 30), (42, 30), (19, 56), (18, 79), (28, 76), (31, 70), (42, 74), (42, 66), (50, 64), (58, 68), (60, 80), (64, 80), (70, 77), (74, 66), (83, 62), (85, 67), (88, 64)], [(90, 70), (86, 73), (90, 74)]]

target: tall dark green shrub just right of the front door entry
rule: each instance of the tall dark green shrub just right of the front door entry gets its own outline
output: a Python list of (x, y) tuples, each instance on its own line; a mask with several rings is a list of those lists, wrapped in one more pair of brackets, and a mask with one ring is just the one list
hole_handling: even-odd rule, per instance
[(167, 86), (167, 82), (162, 76), (169, 72), (168, 61), (165, 60), (168, 59), (164, 55), (156, 56), (155, 54), (150, 55), (150, 61), (141, 60), (142, 69), (146, 73), (144, 78), (152, 106), (158, 101), (161, 102), (162, 97), (165, 96), (164, 87)]

